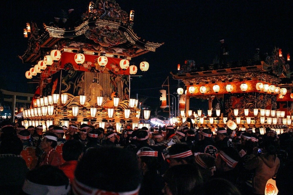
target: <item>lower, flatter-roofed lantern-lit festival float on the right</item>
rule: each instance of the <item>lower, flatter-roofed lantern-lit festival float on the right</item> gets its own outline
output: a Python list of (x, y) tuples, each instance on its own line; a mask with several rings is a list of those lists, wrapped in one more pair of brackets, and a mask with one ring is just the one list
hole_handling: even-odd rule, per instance
[[(212, 131), (234, 125), (243, 130), (259, 127), (262, 134), (270, 127), (280, 134), (292, 128), (293, 76), (290, 55), (285, 57), (274, 48), (263, 60), (256, 52), (253, 60), (227, 63), (224, 68), (219, 63), (196, 65), (193, 60), (178, 64), (178, 72), (171, 74), (185, 86), (177, 90), (180, 116), (172, 118), (173, 124), (180, 126), (190, 117), (195, 127)], [(191, 98), (208, 101), (206, 114), (189, 109)]]

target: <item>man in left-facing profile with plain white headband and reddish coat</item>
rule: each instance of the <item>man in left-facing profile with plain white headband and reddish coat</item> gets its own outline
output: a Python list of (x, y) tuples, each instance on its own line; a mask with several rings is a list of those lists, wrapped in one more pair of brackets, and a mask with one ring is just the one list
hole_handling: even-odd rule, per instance
[(44, 134), (43, 141), (41, 143), (41, 148), (44, 150), (44, 153), (41, 156), (41, 165), (61, 165), (62, 157), (55, 150), (57, 146), (58, 137), (54, 133), (46, 133)]

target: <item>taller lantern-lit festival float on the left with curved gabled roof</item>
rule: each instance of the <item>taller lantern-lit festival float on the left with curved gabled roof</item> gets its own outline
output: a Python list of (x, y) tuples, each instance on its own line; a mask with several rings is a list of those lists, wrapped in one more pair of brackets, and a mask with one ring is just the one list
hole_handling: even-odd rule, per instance
[(28, 49), (19, 58), (33, 64), (25, 76), (38, 79), (39, 86), (31, 107), (23, 111), (23, 124), (87, 123), (117, 131), (143, 126), (138, 100), (130, 99), (130, 76), (147, 71), (149, 63), (137, 67), (130, 60), (163, 43), (138, 37), (132, 29), (134, 11), (123, 11), (113, 0), (89, 2), (81, 16), (71, 17), (72, 11), (43, 23), (43, 29), (26, 24)]

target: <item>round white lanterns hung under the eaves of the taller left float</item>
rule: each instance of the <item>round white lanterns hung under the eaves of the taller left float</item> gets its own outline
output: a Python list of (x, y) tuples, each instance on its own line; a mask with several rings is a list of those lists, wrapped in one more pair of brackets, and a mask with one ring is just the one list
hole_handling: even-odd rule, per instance
[[(50, 66), (53, 64), (53, 62), (57, 62), (61, 59), (61, 51), (54, 49), (51, 51), (50, 55), (46, 55), (44, 57), (44, 60), (40, 60), (38, 64), (36, 64), (33, 68), (30, 68), (30, 70), (25, 72), (25, 77), (28, 79), (31, 79), (33, 76), (37, 75), (37, 73), (41, 73), (42, 70), (45, 70), (47, 66)], [(74, 56), (74, 61), (81, 65), (85, 61), (84, 54), (76, 54)], [(99, 56), (98, 57), (98, 64), (104, 68), (108, 63), (108, 58), (106, 56)], [(120, 60), (120, 68), (122, 70), (127, 70), (129, 68), (129, 72), (131, 75), (134, 75), (137, 73), (137, 67), (135, 65), (130, 65), (129, 60), (122, 59)], [(140, 70), (143, 72), (149, 70), (149, 63), (146, 61), (143, 61), (139, 65)]]

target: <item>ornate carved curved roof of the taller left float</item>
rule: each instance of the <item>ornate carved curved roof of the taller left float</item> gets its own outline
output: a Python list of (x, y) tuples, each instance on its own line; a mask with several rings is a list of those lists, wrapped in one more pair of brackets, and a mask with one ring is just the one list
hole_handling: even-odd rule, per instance
[[(19, 58), (23, 62), (33, 63), (52, 48), (70, 48), (76, 51), (82, 49), (92, 55), (108, 54), (131, 59), (149, 51), (154, 52), (164, 44), (138, 37), (132, 30), (133, 22), (129, 15), (114, 0), (97, 1), (92, 4), (91, 11), (75, 18), (64, 17), (65, 23), (62, 22), (63, 18), (49, 25), (43, 23), (43, 30), (32, 22), (28, 49)], [(75, 21), (70, 23), (73, 19)]]

